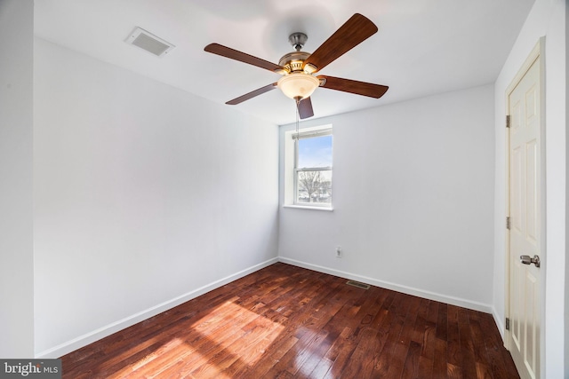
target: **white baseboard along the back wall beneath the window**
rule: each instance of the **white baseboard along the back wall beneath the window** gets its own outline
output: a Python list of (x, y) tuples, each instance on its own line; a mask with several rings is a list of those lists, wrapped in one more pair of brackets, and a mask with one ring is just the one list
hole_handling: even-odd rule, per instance
[[(493, 307), (490, 304), (483, 304), (478, 302), (469, 301), (466, 299), (461, 299), (459, 297), (454, 296), (445, 296), (441, 294), (437, 294), (435, 292), (425, 291), (418, 288), (412, 288), (407, 286), (402, 286), (396, 283), (391, 283), (389, 281), (377, 280), (373, 278), (368, 278), (363, 275), (357, 275), (351, 272), (343, 272), (340, 270), (334, 270), (332, 268), (324, 267), (321, 265), (312, 265), (306, 262), (297, 261), (295, 259), (290, 259), (287, 257), (278, 257), (279, 262), (283, 262), (289, 265), (296, 265), (302, 268), (307, 268), (309, 270), (329, 273), (334, 276), (339, 276), (341, 278), (346, 278), (349, 280), (357, 280), (361, 281), (362, 283), (371, 284), (376, 287), (387, 288), (397, 292), (402, 292), (407, 295), (419, 296), (429, 300), (434, 300), (441, 303), (452, 304), (456, 306), (461, 306), (463, 308), (472, 309), (474, 311), (485, 312), (485, 313), (492, 313), (493, 314)], [(500, 328), (500, 327), (499, 327)]]

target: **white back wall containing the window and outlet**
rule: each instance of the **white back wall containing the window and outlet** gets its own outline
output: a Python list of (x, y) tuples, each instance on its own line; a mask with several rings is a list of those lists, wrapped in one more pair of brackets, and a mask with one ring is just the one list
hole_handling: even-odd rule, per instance
[(490, 312), (493, 101), (485, 85), (302, 122), (333, 124), (333, 211), (281, 209), (281, 259)]

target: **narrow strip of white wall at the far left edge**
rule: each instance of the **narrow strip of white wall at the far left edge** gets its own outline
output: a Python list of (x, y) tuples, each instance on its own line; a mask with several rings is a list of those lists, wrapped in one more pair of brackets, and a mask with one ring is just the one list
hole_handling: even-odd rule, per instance
[(0, 357), (34, 353), (34, 3), (0, 0)]

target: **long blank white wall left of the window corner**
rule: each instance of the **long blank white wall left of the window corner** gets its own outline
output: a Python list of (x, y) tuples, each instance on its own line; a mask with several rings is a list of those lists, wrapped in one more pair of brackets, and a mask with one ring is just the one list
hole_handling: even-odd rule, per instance
[(276, 125), (41, 39), (35, 59), (37, 356), (276, 261)]

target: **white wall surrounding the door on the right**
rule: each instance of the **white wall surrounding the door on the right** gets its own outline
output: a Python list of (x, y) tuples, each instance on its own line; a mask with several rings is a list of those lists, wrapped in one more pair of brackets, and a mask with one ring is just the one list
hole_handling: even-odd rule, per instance
[[(501, 74), (495, 83), (495, 239), (494, 239), (494, 288), (493, 304), (496, 319), (505, 318), (505, 238), (503, 220), (506, 217), (506, 180), (505, 180), (505, 136), (503, 128), (506, 114), (506, 89), (517, 74), (535, 43), (545, 36), (545, 112), (546, 112), (546, 244), (547, 251), (543, 257), (542, 272), (545, 273), (545, 307), (546, 319), (542, 325), (542, 377), (563, 378), (569, 375), (565, 362), (569, 362), (566, 341), (569, 327), (569, 309), (565, 304), (566, 290), (566, 28), (567, 4), (565, 0), (536, 0), (528, 15), (517, 42), (509, 53), (509, 58), (502, 67)], [(503, 334), (503, 325), (499, 324)]]

